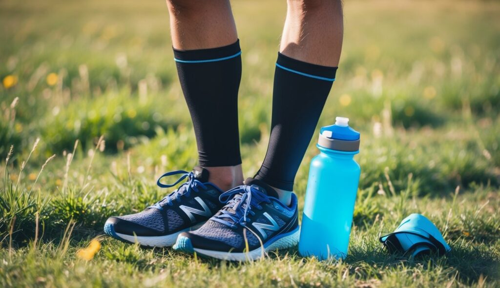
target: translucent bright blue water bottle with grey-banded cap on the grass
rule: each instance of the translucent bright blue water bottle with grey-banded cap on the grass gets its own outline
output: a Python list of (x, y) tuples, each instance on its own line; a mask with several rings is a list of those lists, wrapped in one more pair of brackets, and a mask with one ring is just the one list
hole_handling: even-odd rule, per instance
[(353, 156), (359, 153), (359, 132), (348, 118), (322, 127), (311, 160), (298, 252), (319, 259), (347, 255), (350, 227), (361, 169)]

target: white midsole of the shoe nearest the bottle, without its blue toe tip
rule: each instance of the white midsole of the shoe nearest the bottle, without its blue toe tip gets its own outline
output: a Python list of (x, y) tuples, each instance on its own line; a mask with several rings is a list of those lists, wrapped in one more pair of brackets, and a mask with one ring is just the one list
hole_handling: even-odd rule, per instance
[(292, 234), (279, 238), (273, 243), (271, 243), (269, 246), (265, 247), (263, 252), (262, 252), (262, 246), (253, 249), (249, 252), (221, 252), (221, 251), (205, 250), (199, 248), (193, 248), (193, 249), (197, 253), (222, 260), (230, 260), (230, 261), (256, 260), (262, 257), (264, 254), (266, 254), (268, 251), (273, 251), (276, 249), (285, 249), (296, 245), (298, 243), (299, 236), (300, 236), (300, 230), (297, 229)]

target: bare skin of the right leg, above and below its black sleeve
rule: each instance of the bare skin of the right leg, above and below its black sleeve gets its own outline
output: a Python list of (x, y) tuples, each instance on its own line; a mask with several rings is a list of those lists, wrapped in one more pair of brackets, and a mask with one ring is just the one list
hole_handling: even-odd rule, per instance
[[(280, 52), (290, 58), (323, 66), (337, 66), (342, 48), (343, 16), (340, 0), (287, 0)], [(289, 203), (290, 191), (276, 189)]]

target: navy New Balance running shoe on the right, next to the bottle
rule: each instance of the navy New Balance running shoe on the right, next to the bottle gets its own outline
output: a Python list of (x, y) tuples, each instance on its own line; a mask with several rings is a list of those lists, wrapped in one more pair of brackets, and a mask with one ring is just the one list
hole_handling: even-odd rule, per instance
[(298, 242), (297, 197), (289, 206), (262, 181), (244, 184), (220, 195), (225, 205), (199, 229), (182, 232), (174, 249), (200, 256), (245, 261)]

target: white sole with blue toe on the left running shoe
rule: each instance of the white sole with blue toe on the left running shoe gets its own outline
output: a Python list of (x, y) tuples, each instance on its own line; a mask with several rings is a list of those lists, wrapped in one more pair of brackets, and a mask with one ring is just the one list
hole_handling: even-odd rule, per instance
[(106, 222), (104, 224), (104, 233), (107, 235), (118, 239), (123, 242), (127, 243), (139, 243), (141, 246), (147, 246), (147, 247), (169, 247), (173, 244), (175, 244), (175, 241), (177, 240), (177, 236), (182, 233), (182, 232), (187, 232), (187, 231), (192, 231), (195, 230), (201, 225), (203, 225), (205, 222), (198, 223), (194, 226), (191, 226), (189, 228), (185, 228), (183, 230), (180, 230), (178, 232), (168, 234), (168, 235), (163, 235), (163, 236), (136, 236), (136, 235), (127, 235), (127, 234), (122, 234), (118, 233), (114, 230), (114, 226), (112, 223)]

